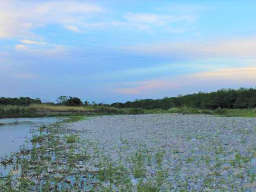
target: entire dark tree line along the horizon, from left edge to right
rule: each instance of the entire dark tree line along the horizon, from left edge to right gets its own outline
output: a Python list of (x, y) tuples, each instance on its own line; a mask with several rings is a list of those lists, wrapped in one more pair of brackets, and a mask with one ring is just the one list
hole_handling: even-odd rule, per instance
[[(103, 103), (82, 102), (78, 97), (60, 96), (57, 103), (44, 103), (50, 105), (64, 106), (110, 106), (115, 108), (143, 108), (143, 109), (169, 109), (174, 107), (187, 106), (191, 108), (215, 109), (215, 108), (256, 108), (256, 89), (220, 89), (215, 92), (198, 92), (177, 97), (165, 97), (163, 99), (143, 99), (127, 101), (125, 103), (116, 102), (111, 105)], [(28, 106), (30, 104), (42, 104), (40, 98), (31, 99), (29, 97), (0, 98), (0, 105)]]

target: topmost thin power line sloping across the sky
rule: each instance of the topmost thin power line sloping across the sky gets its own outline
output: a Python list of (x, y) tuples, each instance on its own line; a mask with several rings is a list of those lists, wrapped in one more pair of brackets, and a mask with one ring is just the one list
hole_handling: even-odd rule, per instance
[[(7, 20), (17, 20), (17, 21), (23, 21), (23, 22), (30, 22), (30, 23), (36, 23), (36, 24), (43, 24), (43, 25), (49, 25), (49, 26), (55, 26), (55, 27), (63, 27), (61, 25), (55, 25), (55, 24), (48, 24), (48, 23), (40, 23), (40, 22), (35, 22), (35, 21), (28, 21), (28, 20), (20, 20), (20, 19), (13, 19), (13, 18), (7, 18), (7, 17), (0, 17), (2, 19), (7, 19)], [(108, 34), (114, 34), (114, 35), (122, 35), (122, 36), (133, 36), (133, 37), (140, 37), (140, 38), (147, 38), (147, 39), (156, 39), (156, 40), (163, 40), (163, 41), (171, 41), (171, 42), (177, 42), (177, 43), (188, 43), (191, 44), (191, 42), (186, 42), (186, 41), (175, 41), (175, 40), (170, 40), (170, 39), (162, 39), (162, 38), (155, 38), (155, 37), (146, 37), (146, 36), (137, 36), (137, 35), (131, 35), (131, 34), (122, 34), (122, 33), (114, 33), (114, 32), (106, 32), (106, 31), (98, 31), (98, 30), (92, 30), (92, 29), (84, 29), (81, 28), (80, 30), (84, 31), (91, 31), (91, 32), (98, 32), (98, 33), (108, 33)], [(211, 45), (211, 46), (220, 46), (220, 45), (214, 45), (214, 44), (202, 44), (202, 43), (194, 43), (193, 44), (201, 44), (201, 45)], [(234, 46), (221, 46), (221, 47), (234, 47)], [(241, 47), (241, 48), (246, 48), (246, 47)]]

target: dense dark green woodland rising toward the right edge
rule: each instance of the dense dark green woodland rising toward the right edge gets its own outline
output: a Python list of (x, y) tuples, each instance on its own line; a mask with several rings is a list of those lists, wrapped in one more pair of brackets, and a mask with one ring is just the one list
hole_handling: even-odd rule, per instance
[(215, 108), (256, 108), (256, 89), (220, 89), (216, 92), (198, 92), (164, 99), (144, 99), (113, 103), (116, 108), (169, 109), (173, 107)]

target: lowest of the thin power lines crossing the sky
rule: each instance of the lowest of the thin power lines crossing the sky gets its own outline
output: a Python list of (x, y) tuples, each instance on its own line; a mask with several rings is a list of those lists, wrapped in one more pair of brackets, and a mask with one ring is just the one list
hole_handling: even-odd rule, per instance
[[(9, 47), (15, 47), (12, 45), (2, 45), (2, 46), (9, 46)], [(21, 47), (22, 48), (22, 47)], [(40, 49), (40, 48), (32, 48), (32, 47), (24, 47), (24, 48), (28, 48), (28, 49), (36, 49), (36, 50), (46, 50), (46, 51), (60, 51), (60, 50), (52, 50), (52, 49)], [(59, 53), (45, 53), (45, 52), (31, 52), (31, 51), (22, 51), (22, 50), (10, 50), (10, 49), (2, 49), (0, 48), (0, 50), (3, 51), (15, 51), (15, 52), (30, 52), (30, 53), (40, 53), (40, 54), (50, 54), (50, 55), (61, 55), (61, 56), (73, 56), (73, 57), (81, 57), (81, 58), (97, 58), (97, 59), (113, 59), (113, 60), (133, 60), (133, 61), (150, 61), (150, 62), (167, 62), (167, 61), (156, 61), (156, 60), (136, 60), (136, 59), (124, 59), (124, 58), (107, 58), (107, 57), (91, 57), (91, 56), (84, 56), (84, 55), (70, 55), (70, 54), (59, 54)], [(68, 51), (60, 51), (60, 52), (68, 52)], [(76, 53), (76, 52), (74, 52)], [(95, 53), (85, 53), (85, 54), (93, 54), (93, 55), (97, 55)], [(101, 54), (103, 55), (103, 54)], [(170, 60), (170, 61), (186, 61), (186, 60)], [(208, 63), (207, 63), (208, 62)], [(207, 61), (207, 62), (188, 62), (186, 61), (186, 63), (188, 64), (223, 64), (223, 63), (230, 63), (230, 64), (244, 64), (246, 62), (216, 62), (216, 61)]]

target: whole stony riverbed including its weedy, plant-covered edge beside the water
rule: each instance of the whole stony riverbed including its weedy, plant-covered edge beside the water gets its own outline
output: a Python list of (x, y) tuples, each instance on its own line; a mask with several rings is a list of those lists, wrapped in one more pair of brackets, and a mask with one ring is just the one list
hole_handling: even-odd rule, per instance
[[(4, 191), (256, 191), (256, 118), (118, 115), (38, 130)], [(17, 179), (18, 178), (18, 179)]]

